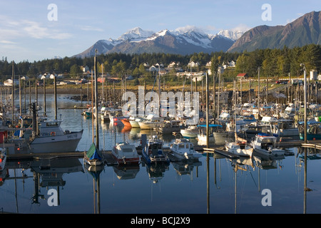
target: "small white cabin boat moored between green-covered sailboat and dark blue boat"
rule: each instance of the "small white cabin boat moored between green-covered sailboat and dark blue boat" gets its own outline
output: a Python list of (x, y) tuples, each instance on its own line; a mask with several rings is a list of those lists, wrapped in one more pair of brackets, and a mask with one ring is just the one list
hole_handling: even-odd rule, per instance
[(118, 165), (135, 165), (141, 162), (135, 145), (128, 142), (119, 142), (111, 150), (111, 155)]

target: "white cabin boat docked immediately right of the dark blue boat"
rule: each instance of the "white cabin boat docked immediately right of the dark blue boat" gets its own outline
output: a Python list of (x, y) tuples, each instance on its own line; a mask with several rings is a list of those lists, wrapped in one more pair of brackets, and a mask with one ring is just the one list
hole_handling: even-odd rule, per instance
[(202, 157), (200, 152), (194, 150), (193, 142), (187, 139), (176, 139), (171, 145), (170, 150), (173, 151), (173, 155), (179, 159), (198, 159)]

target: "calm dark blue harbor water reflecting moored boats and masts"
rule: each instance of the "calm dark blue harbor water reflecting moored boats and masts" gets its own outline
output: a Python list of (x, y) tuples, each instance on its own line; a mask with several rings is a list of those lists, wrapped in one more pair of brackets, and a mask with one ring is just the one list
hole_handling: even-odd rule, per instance
[[(79, 102), (58, 96), (58, 108)], [(47, 112), (54, 116), (52, 96)], [(39, 98), (41, 102), (41, 98)], [(91, 144), (91, 120), (81, 110), (58, 109), (68, 130), (83, 129), (77, 150)], [(115, 142), (138, 143), (141, 130), (122, 132), (122, 126), (102, 123), (100, 147), (110, 150)], [(143, 132), (150, 135), (148, 132)], [(173, 136), (164, 137), (170, 142)], [(197, 142), (195, 142), (197, 143)], [(320, 213), (321, 160), (307, 160), (305, 177), (301, 150), (280, 160), (230, 160), (218, 155), (204, 155), (199, 162), (171, 162), (169, 166), (137, 167), (105, 165), (88, 171), (81, 159), (8, 162), (1, 173), (0, 209), (19, 213)], [(314, 151), (312, 151), (314, 152)], [(304, 155), (304, 154), (303, 154)], [(305, 194), (305, 181), (307, 189)], [(58, 206), (49, 206), (49, 190), (58, 192)], [(271, 206), (263, 206), (263, 190), (271, 191)]]

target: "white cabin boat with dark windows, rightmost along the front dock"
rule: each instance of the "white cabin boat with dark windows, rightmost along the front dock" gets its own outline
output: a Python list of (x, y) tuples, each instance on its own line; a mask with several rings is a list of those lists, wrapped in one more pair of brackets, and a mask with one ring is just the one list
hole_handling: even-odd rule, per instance
[(259, 133), (255, 135), (251, 144), (255, 152), (268, 157), (285, 155), (285, 150), (276, 147), (276, 141), (277, 137), (275, 135)]

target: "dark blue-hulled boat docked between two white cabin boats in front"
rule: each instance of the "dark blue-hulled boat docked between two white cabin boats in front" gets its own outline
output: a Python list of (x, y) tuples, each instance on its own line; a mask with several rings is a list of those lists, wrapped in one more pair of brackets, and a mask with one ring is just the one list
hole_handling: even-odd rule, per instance
[(148, 165), (152, 163), (169, 163), (170, 160), (163, 152), (163, 141), (159, 140), (157, 135), (147, 141), (146, 146), (143, 147), (142, 157)]

